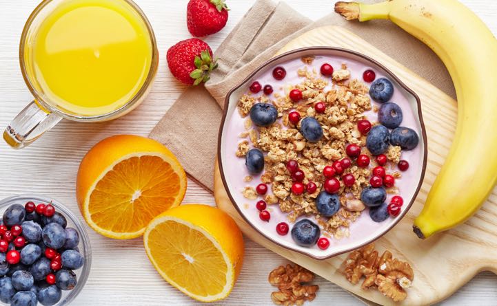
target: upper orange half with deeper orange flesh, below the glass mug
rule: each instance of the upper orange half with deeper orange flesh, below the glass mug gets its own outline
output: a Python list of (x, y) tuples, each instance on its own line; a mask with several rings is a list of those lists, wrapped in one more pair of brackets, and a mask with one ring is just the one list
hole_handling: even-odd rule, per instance
[(179, 206), (187, 179), (165, 146), (134, 135), (96, 144), (83, 158), (77, 200), (88, 225), (105, 237), (141, 236), (150, 220)]

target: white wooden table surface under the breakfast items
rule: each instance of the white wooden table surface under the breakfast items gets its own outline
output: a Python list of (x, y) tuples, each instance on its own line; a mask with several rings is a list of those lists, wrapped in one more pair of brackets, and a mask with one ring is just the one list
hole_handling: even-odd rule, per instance
[[(497, 34), (495, 0), (462, 0)], [(23, 24), (39, 0), (0, 0), (0, 129), (32, 100), (18, 64), (19, 37)], [(156, 33), (161, 64), (148, 99), (130, 115), (99, 124), (64, 121), (41, 140), (22, 151), (0, 141), (0, 198), (37, 193), (59, 199), (79, 213), (75, 200), (75, 178), (81, 158), (103, 138), (118, 133), (148, 135), (163, 113), (185, 87), (170, 75), (165, 53), (170, 45), (187, 39), (187, 0), (136, 0), (148, 15)], [(227, 0), (230, 20), (225, 29), (206, 39), (215, 50), (227, 33), (252, 6), (254, 0)], [(312, 19), (332, 10), (334, 1), (287, 0)], [(319, 9), (318, 9), (319, 8)], [(214, 198), (189, 180), (185, 203), (214, 205)], [(82, 219), (82, 218), (81, 218)], [(198, 305), (163, 281), (143, 250), (142, 239), (114, 241), (88, 228), (92, 241), (92, 270), (83, 292), (73, 305)], [(234, 291), (220, 305), (272, 305), (273, 287), (267, 274), (285, 259), (245, 239), (245, 263)], [(456, 272), (454, 277), (457, 277)], [(317, 278), (320, 290), (310, 305), (358, 305), (345, 290)], [(479, 274), (442, 305), (496, 305), (497, 276)]]

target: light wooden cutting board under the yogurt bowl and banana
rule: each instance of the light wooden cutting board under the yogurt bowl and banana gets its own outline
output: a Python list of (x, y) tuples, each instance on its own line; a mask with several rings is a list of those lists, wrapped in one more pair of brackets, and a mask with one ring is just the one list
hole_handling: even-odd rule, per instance
[[(376, 241), (376, 248), (381, 251), (391, 250), (394, 256), (409, 261), (414, 268), (413, 287), (408, 289), (407, 299), (399, 305), (430, 305), (453, 294), (478, 272), (489, 270), (497, 274), (497, 188), (494, 189), (483, 208), (458, 228), (425, 241), (418, 239), (412, 232), (414, 218), (423, 207), (427, 193), (452, 143), (456, 129), (456, 101), (428, 83), (427, 80), (420, 78), (343, 28), (327, 26), (311, 30), (291, 41), (278, 53), (316, 45), (344, 47), (371, 56), (391, 69), (418, 94), (421, 100), (429, 151), (425, 181), (416, 198), (416, 203), (404, 219), (393, 230)], [(216, 204), (234, 217), (247, 237), (362, 298), (381, 305), (395, 304), (376, 290), (365, 291), (361, 289), (360, 284), (352, 285), (346, 280), (339, 267), (347, 254), (326, 261), (317, 261), (278, 247), (258, 234), (243, 221), (228, 199), (217, 164), (215, 171)]]

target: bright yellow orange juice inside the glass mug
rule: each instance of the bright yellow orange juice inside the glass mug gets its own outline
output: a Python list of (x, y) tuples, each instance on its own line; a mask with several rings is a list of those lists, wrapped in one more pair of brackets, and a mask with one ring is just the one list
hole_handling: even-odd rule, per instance
[(152, 65), (147, 24), (123, 0), (61, 2), (24, 52), (33, 87), (53, 107), (101, 116), (142, 89)]

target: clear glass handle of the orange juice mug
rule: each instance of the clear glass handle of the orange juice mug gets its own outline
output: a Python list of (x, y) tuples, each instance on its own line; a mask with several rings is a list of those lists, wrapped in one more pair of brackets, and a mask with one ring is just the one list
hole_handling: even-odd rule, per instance
[(52, 129), (62, 117), (41, 109), (32, 101), (3, 132), (3, 139), (14, 149), (22, 149)]

